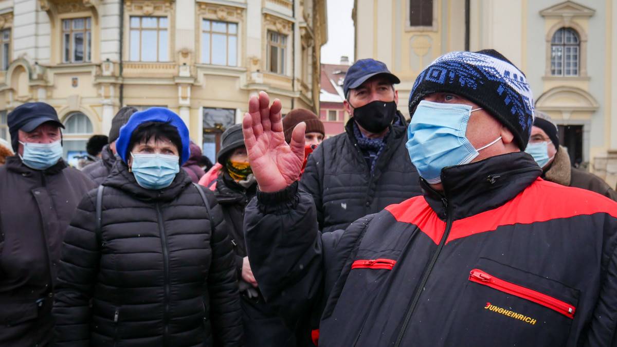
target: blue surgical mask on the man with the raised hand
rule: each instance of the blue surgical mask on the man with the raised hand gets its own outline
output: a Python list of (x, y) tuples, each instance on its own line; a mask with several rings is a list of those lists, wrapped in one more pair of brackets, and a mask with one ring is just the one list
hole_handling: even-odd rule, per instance
[(420, 101), (407, 128), (407, 151), (420, 177), (430, 184), (441, 182), (441, 169), (470, 163), (482, 148), (474, 148), (466, 138), (471, 109), (465, 104)]

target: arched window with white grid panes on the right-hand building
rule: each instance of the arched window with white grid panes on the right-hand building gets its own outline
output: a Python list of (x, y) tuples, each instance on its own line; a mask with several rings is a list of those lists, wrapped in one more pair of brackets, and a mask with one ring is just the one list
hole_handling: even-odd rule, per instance
[(561, 28), (550, 41), (550, 73), (553, 76), (578, 76), (581, 40), (576, 30)]

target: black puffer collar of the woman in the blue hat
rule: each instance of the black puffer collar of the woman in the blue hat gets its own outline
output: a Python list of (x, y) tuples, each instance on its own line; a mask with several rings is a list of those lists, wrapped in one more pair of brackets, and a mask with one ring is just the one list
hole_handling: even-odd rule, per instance
[(191, 177), (184, 170), (180, 170), (170, 186), (162, 190), (151, 190), (140, 186), (133, 173), (128, 172), (128, 166), (122, 160), (115, 161), (112, 172), (103, 181), (102, 185), (126, 191), (135, 198), (143, 201), (170, 201), (175, 199), (186, 186), (191, 184)]

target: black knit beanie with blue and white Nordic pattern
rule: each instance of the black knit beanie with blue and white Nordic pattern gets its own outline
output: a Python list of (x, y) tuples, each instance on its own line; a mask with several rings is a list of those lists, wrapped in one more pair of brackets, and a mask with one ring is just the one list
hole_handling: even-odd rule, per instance
[(523, 151), (534, 122), (531, 88), (521, 70), (494, 49), (450, 52), (426, 67), (409, 95), (409, 114), (429, 94), (449, 92), (478, 104), (513, 134)]

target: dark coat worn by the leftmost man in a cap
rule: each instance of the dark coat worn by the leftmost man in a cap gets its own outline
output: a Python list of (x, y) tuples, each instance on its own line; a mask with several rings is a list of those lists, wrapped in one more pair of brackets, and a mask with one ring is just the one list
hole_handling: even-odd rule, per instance
[(0, 346), (45, 346), (53, 335), (53, 288), (68, 222), (94, 183), (64, 161), (0, 167)]

